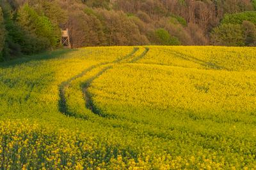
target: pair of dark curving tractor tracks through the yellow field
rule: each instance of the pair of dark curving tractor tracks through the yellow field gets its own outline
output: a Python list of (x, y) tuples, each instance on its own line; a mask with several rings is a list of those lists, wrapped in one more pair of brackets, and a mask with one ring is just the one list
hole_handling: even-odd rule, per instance
[[(134, 47), (132, 52), (129, 53), (128, 55), (125, 55), (125, 57), (122, 57), (120, 59), (116, 59), (113, 62), (102, 62), (100, 64), (95, 64), (94, 66), (91, 66), (91, 67), (88, 67), (87, 69), (84, 69), (84, 71), (82, 71), (81, 73), (77, 74), (76, 76), (73, 76), (72, 78), (69, 78), (67, 81), (61, 82), (61, 84), (59, 86), (59, 98), (60, 98), (59, 102), (58, 102), (59, 111), (61, 113), (63, 113), (64, 115), (67, 115), (67, 116), (70, 116), (70, 117), (77, 117), (77, 118), (87, 119), (87, 117), (85, 117), (85, 116), (84, 117), (78, 116), (76, 113), (71, 113), (70, 111), (68, 111), (67, 99), (65, 98), (66, 89), (70, 86), (70, 83), (72, 81), (76, 80), (77, 78), (81, 78), (82, 76), (84, 76), (89, 71), (92, 71), (93, 69), (95, 69), (97, 67), (100, 67), (100, 66), (106, 66), (104, 69), (102, 69), (102, 71), (100, 71), (99, 73), (95, 74), (95, 76), (92, 76), (91, 78), (89, 78), (88, 81), (86, 81), (84, 83), (84, 86), (83, 86), (83, 94), (84, 94), (84, 99), (86, 100), (86, 108), (91, 110), (93, 113), (99, 115), (99, 111), (93, 105), (92, 95), (88, 92), (88, 87), (90, 87), (90, 84), (92, 83), (93, 80), (95, 80), (101, 74), (103, 74), (108, 69), (111, 69), (111, 67), (113, 67), (113, 66), (108, 66), (108, 64), (116, 64), (116, 63), (122, 62), (122, 60), (129, 59), (136, 52), (138, 52), (139, 49), (140, 48), (138, 48), (138, 47)], [(141, 55), (139, 55), (138, 57), (132, 59), (131, 62), (136, 62), (137, 60), (139, 60), (142, 57), (144, 57), (147, 54), (148, 50), (149, 50), (149, 48), (145, 47), (145, 51), (143, 53), (141, 53)], [(131, 62), (127, 62), (127, 63), (131, 63)]]

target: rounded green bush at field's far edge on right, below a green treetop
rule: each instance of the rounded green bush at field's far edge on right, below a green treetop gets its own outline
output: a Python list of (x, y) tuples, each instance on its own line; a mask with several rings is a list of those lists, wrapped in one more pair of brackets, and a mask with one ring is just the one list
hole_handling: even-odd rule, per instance
[(243, 27), (239, 24), (221, 24), (211, 32), (214, 45), (244, 46)]

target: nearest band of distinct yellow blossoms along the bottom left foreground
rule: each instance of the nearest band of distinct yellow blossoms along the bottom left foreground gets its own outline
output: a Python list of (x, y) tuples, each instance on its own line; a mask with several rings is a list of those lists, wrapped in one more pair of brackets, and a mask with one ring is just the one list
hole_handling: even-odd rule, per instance
[[(195, 157), (186, 160), (170, 154), (155, 154), (151, 160), (145, 154), (127, 159), (83, 132), (45, 125), (29, 120), (1, 122), (1, 169), (181, 169), (196, 162)], [(203, 162), (199, 167), (224, 166), (224, 162), (216, 164), (211, 159)]]

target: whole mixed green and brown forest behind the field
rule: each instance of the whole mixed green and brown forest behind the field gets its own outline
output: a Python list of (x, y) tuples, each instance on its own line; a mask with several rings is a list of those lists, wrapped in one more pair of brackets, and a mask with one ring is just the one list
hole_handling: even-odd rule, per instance
[(256, 45), (256, 0), (1, 0), (0, 60), (60, 46)]

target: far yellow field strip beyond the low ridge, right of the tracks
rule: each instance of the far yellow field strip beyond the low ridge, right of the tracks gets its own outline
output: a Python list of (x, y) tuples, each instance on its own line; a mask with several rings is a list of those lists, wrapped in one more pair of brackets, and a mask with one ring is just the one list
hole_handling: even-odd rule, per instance
[(256, 71), (255, 56), (255, 47), (150, 46), (150, 51), (140, 63), (198, 69)]

